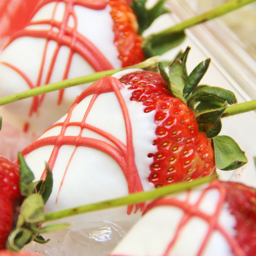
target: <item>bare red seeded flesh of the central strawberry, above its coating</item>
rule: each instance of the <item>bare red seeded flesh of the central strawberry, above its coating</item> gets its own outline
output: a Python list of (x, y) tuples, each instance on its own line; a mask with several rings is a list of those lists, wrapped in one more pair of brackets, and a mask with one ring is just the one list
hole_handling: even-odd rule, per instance
[(215, 172), (211, 140), (199, 131), (195, 113), (171, 95), (159, 73), (133, 72), (120, 81), (134, 90), (131, 100), (143, 102), (146, 113), (156, 111), (157, 152), (148, 155), (154, 158), (149, 181), (155, 187)]

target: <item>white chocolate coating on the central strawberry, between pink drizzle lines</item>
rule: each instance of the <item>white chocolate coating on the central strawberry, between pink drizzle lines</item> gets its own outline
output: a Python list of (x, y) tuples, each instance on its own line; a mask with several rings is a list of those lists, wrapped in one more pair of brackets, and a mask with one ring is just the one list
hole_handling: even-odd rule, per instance
[[(131, 70), (126, 71), (126, 73), (129, 71)], [(148, 158), (148, 154), (156, 152), (156, 146), (152, 145), (156, 139), (155, 111), (145, 113), (145, 106), (142, 102), (130, 101), (131, 92), (131, 90), (127, 90), (127, 87), (120, 89), (131, 120), (135, 164), (143, 189), (151, 190), (154, 186), (148, 181), (148, 176), (152, 158)], [(69, 122), (81, 122), (83, 120), (92, 97), (93, 95), (87, 96), (75, 106)], [(63, 116), (57, 123), (63, 122), (66, 117), (67, 115)], [(113, 135), (123, 145), (126, 145), (124, 117), (114, 92), (101, 93), (98, 96), (86, 117), (86, 123)], [(61, 126), (52, 127), (38, 140), (57, 136), (61, 129)], [(78, 136), (80, 132), (82, 137), (99, 139), (117, 148), (107, 138), (86, 128), (81, 131), (78, 126), (68, 126), (65, 136)], [(49, 160), (53, 148), (53, 145), (41, 146), (26, 155), (26, 163), (33, 171), (36, 180), (41, 178), (45, 169), (45, 161)], [(69, 163), (70, 159), (71, 162)], [(67, 166), (68, 169), (66, 170)], [(65, 170), (65, 178), (62, 182)], [(114, 199), (128, 194), (127, 181), (117, 162), (110, 155), (86, 146), (78, 146), (76, 149), (73, 145), (60, 147), (53, 167), (53, 180), (53, 192), (46, 204), (46, 212)], [(61, 184), (62, 187), (60, 188)], [(131, 214), (132, 216), (128, 216), (126, 211), (127, 207), (109, 209), (107, 214), (105, 211), (93, 212), (92, 214), (72, 217), (69, 221), (72, 221), (74, 225), (81, 226), (86, 221), (97, 219), (115, 221), (140, 216), (140, 211), (136, 216), (134, 213)]]

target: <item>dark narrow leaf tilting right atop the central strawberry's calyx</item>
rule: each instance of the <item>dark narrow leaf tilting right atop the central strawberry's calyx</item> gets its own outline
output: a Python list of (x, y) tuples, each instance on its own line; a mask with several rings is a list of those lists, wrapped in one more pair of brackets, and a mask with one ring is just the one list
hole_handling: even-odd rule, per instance
[(183, 96), (185, 99), (188, 98), (190, 93), (199, 84), (199, 82), (205, 75), (205, 73), (210, 65), (210, 62), (211, 62), (211, 59), (206, 59), (206, 60), (200, 62), (190, 73), (190, 75), (188, 76), (187, 81), (185, 83), (184, 90), (183, 90)]

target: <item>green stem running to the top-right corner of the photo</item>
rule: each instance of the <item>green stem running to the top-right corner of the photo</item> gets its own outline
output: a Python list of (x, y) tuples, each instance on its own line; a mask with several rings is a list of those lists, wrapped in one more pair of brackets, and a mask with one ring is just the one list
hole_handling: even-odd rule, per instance
[(154, 41), (155, 37), (161, 39), (164, 36), (182, 32), (184, 29), (187, 29), (200, 23), (204, 23), (208, 20), (212, 20), (221, 15), (227, 14), (228, 12), (234, 11), (235, 9), (238, 9), (244, 5), (248, 5), (249, 3), (252, 3), (254, 1), (255, 0), (232, 0), (228, 3), (224, 3), (223, 5), (218, 6), (217, 8), (211, 9), (210, 11), (204, 12), (203, 14), (196, 15), (188, 20), (182, 21), (181, 23), (174, 25), (173, 27), (170, 27), (166, 30), (163, 30), (155, 34)]

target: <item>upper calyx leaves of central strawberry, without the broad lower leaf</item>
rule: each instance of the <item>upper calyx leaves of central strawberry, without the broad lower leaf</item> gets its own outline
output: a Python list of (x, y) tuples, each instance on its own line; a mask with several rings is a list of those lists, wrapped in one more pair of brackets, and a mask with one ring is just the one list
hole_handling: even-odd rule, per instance
[(211, 59), (200, 62), (188, 74), (186, 61), (189, 51), (190, 47), (187, 47), (184, 53), (170, 63), (169, 74), (161, 63), (158, 67), (173, 97), (180, 99), (196, 113), (200, 130), (205, 131), (207, 137), (213, 138), (220, 133), (221, 115), (228, 104), (236, 103), (236, 98), (233, 92), (220, 87), (198, 86), (208, 70)]

